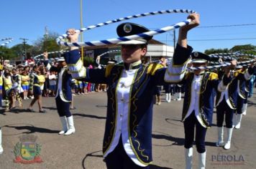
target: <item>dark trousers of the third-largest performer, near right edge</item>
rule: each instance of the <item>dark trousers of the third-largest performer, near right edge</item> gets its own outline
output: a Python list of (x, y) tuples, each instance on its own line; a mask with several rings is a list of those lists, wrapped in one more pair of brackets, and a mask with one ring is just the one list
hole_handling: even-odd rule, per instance
[(216, 107), (216, 114), (217, 114), (217, 126), (222, 127), (224, 122), (224, 115), (225, 115), (225, 122), (227, 128), (232, 128), (233, 125), (233, 114), (234, 110), (232, 110), (229, 105), (227, 105), (226, 100), (222, 100), (221, 103)]

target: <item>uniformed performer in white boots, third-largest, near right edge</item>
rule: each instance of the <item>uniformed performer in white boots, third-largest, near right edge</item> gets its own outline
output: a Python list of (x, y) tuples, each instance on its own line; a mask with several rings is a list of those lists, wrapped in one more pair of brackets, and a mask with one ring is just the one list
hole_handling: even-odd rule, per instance
[[(253, 64), (247, 69), (244, 74), (234, 74), (232, 75), (232, 81), (229, 83), (226, 90), (223, 92), (217, 92), (216, 96), (216, 115), (217, 115), (217, 127), (218, 127), (218, 142), (216, 146), (223, 146), (224, 149), (228, 150), (231, 146), (231, 138), (233, 132), (233, 114), (237, 109), (237, 85), (239, 82), (244, 82), (250, 79), (254, 72)], [(227, 140), (223, 141), (223, 122), (225, 122), (227, 128)]]

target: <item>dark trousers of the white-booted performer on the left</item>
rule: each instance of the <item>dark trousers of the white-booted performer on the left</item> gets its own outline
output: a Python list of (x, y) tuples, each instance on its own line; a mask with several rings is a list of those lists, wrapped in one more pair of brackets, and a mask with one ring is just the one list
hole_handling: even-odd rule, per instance
[(56, 101), (56, 106), (57, 106), (57, 111), (60, 117), (70, 117), (70, 102), (63, 102), (63, 100), (60, 99), (60, 95), (55, 99)]

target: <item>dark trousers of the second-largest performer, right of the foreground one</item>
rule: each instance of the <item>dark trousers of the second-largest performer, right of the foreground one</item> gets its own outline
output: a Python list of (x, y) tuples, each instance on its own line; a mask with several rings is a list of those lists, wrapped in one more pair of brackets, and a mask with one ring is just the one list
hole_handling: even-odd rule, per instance
[(185, 130), (185, 148), (192, 148), (193, 146), (193, 138), (195, 133), (196, 126), (196, 150), (198, 153), (206, 152), (205, 138), (206, 138), (206, 130), (207, 128), (203, 127), (198, 120), (196, 119), (195, 112), (193, 111), (191, 115), (189, 115), (184, 123)]

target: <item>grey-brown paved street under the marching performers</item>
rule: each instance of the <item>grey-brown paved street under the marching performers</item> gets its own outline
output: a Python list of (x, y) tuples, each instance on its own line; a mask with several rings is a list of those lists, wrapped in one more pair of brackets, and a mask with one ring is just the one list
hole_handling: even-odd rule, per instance
[[(183, 100), (165, 102), (154, 106), (152, 128), (153, 165), (151, 168), (184, 168), (183, 123), (180, 122)], [(30, 100), (24, 100), (27, 108)], [(4, 153), (0, 155), (0, 168), (86, 168), (104, 169), (101, 145), (106, 119), (106, 93), (91, 93), (75, 97), (73, 110), (76, 133), (58, 135), (60, 119), (53, 97), (43, 98), (47, 113), (15, 112), (0, 113)], [(38, 106), (34, 105), (38, 110)], [(216, 114), (214, 125), (206, 136), (207, 168), (256, 168), (256, 95), (250, 98), (247, 115), (242, 119), (240, 130), (234, 130), (232, 148), (215, 147), (217, 139)], [(18, 112), (18, 111), (17, 111)], [(37, 135), (36, 143), (42, 145), (43, 163), (14, 163), (14, 146), (25, 134)], [(193, 165), (197, 167), (196, 148)]]

